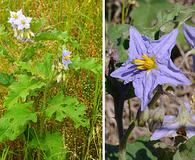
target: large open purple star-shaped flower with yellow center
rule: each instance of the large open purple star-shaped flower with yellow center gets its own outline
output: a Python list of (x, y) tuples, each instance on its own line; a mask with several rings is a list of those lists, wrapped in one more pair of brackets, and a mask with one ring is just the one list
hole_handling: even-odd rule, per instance
[(170, 58), (177, 34), (178, 29), (174, 29), (159, 40), (151, 40), (136, 28), (130, 28), (129, 59), (111, 76), (124, 80), (125, 84), (133, 82), (135, 95), (141, 99), (142, 111), (152, 99), (153, 90), (158, 84), (191, 84)]

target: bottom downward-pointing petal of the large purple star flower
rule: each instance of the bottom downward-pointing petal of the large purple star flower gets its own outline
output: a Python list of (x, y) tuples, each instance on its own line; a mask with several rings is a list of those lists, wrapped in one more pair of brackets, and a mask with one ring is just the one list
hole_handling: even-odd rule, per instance
[(135, 95), (141, 100), (141, 111), (143, 111), (152, 98), (153, 90), (156, 88), (156, 75), (153, 71), (145, 72), (142, 78), (133, 81)]

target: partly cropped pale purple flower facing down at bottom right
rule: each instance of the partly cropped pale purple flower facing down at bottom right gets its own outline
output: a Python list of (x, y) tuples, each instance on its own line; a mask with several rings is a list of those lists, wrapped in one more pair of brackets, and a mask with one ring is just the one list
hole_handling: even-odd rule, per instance
[(152, 134), (150, 140), (158, 140), (163, 137), (175, 137), (177, 135), (183, 135), (188, 138), (195, 135), (195, 114), (192, 113), (188, 102), (180, 107), (177, 117), (166, 115), (161, 128)]

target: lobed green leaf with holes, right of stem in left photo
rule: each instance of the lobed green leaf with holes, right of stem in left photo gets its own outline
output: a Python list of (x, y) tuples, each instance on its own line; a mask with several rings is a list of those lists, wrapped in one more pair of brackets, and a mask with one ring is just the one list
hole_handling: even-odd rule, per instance
[(64, 97), (63, 93), (59, 93), (48, 102), (46, 116), (55, 117), (57, 121), (63, 121), (64, 118), (70, 118), (74, 121), (76, 128), (83, 126), (88, 127), (89, 121), (86, 118), (86, 106), (79, 103), (75, 97)]

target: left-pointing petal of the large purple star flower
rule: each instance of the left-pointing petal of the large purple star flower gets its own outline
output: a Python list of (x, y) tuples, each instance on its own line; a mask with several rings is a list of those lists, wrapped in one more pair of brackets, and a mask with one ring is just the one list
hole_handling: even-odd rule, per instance
[(119, 78), (124, 81), (125, 84), (134, 79), (134, 76), (141, 71), (136, 69), (136, 66), (132, 63), (125, 63), (120, 68), (110, 74), (111, 77)]

